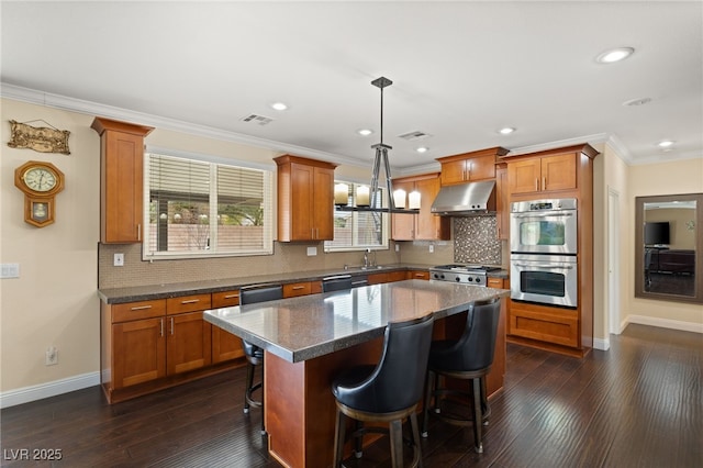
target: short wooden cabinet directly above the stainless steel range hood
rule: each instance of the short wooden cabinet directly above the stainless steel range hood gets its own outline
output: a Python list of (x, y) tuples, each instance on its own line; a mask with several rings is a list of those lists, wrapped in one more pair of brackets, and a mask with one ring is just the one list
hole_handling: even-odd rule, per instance
[(496, 146), (478, 152), (438, 158), (442, 164), (442, 185), (451, 186), (472, 180), (495, 178), (495, 163), (507, 149)]

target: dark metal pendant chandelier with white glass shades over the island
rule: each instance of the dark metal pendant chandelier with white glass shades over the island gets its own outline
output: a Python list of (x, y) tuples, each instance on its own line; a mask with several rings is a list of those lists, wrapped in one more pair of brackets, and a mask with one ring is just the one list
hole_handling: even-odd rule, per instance
[[(369, 199), (369, 188), (368, 187), (359, 187), (357, 189), (357, 205), (356, 207), (343, 207), (341, 203), (337, 203), (337, 208), (343, 211), (386, 211), (393, 213), (410, 213), (415, 214), (420, 212), (420, 192), (414, 190), (409, 196), (409, 209), (405, 209), (405, 197), (406, 193), (404, 190), (399, 189), (393, 191), (393, 182), (391, 180), (391, 168), (388, 161), (388, 151), (393, 149), (392, 146), (389, 146), (383, 143), (383, 89), (391, 86), (393, 81), (386, 77), (380, 77), (371, 81), (371, 85), (379, 88), (381, 90), (381, 127), (380, 127), (380, 142), (376, 145), (372, 145), (371, 148), (376, 149), (376, 157), (373, 158), (373, 168), (371, 171), (371, 187), (370, 187), (370, 199)], [(381, 165), (383, 166), (383, 170), (386, 171), (386, 190), (388, 191), (388, 208), (377, 208), (377, 196), (378, 196), (378, 178), (381, 169)], [(342, 188), (339, 188), (342, 189)], [(362, 192), (362, 190), (366, 190)], [(336, 190), (335, 190), (336, 193)], [(336, 197), (335, 197), (336, 200)], [(339, 196), (339, 201), (342, 197)]]

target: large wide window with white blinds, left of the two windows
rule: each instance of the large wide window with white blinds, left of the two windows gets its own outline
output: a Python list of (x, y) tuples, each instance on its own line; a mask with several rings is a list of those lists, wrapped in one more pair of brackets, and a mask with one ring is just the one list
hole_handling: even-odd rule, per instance
[(147, 154), (145, 258), (272, 254), (272, 172)]

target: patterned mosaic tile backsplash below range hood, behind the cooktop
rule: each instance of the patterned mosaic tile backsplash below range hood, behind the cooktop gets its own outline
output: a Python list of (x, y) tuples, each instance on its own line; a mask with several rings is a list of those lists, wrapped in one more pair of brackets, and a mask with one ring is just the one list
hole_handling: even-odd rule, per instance
[(459, 264), (501, 265), (501, 241), (494, 215), (454, 219), (454, 260)]

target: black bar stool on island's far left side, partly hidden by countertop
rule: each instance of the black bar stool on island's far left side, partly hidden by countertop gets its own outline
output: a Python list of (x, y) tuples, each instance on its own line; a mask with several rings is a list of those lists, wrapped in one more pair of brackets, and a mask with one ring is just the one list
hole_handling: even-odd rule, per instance
[[(253, 304), (256, 302), (275, 301), (283, 299), (282, 286), (266, 286), (260, 288), (242, 288), (239, 290), (239, 305)], [(242, 348), (246, 357), (246, 390), (244, 392), (244, 412), (249, 412), (249, 406), (261, 408), (261, 434), (266, 434), (264, 422), (264, 349), (242, 339)], [(254, 385), (254, 372), (256, 366), (261, 366), (261, 381)], [(261, 400), (254, 400), (252, 393), (261, 389)]]

